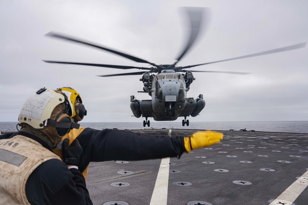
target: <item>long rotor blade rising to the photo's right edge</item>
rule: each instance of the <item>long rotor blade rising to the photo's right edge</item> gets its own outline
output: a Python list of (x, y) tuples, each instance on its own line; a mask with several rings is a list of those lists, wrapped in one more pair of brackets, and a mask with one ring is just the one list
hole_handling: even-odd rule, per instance
[(305, 48), (306, 44), (307, 44), (307, 42), (304, 42), (304, 43), (295, 44), (295, 45), (291, 45), (291, 46), (287, 46), (287, 47), (283, 47), (283, 48), (279, 48), (279, 49), (264, 51), (264, 52), (261, 52), (261, 53), (254, 53), (254, 54), (240, 56), (240, 57), (235, 57), (235, 58), (229, 58), (229, 59), (225, 59), (225, 60), (221, 60), (221, 61), (213, 61), (213, 62), (197, 64), (197, 65), (188, 65), (188, 66), (182, 67), (182, 69), (192, 68), (192, 67), (199, 66), (199, 65), (206, 65), (206, 64), (218, 63), (218, 62), (224, 62), (224, 61), (232, 61), (232, 60), (237, 60), (237, 59), (242, 59), (242, 58), (266, 55), (266, 54), (270, 54), (270, 53), (278, 53), (278, 52), (287, 51), (287, 50)]

